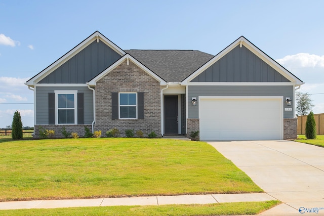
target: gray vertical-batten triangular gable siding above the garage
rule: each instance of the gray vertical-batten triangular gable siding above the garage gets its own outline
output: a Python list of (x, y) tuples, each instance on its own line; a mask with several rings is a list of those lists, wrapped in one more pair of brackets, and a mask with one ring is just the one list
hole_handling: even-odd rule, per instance
[(290, 82), (246, 47), (235, 47), (191, 82)]

